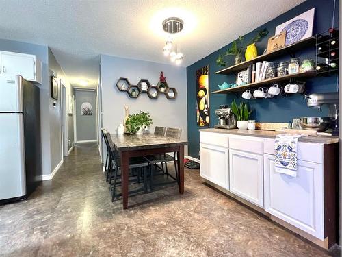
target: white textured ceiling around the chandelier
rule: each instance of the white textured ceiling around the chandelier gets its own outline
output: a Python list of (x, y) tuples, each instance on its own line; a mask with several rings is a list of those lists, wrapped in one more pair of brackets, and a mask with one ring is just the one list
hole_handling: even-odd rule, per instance
[(304, 0), (0, 0), (0, 37), (51, 47), (73, 86), (98, 82), (100, 54), (169, 63), (161, 21), (185, 21), (188, 66)]

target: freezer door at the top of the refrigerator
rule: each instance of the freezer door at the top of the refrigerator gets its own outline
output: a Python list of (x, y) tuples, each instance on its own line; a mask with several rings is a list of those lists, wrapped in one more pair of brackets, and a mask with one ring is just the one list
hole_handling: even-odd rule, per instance
[(23, 77), (0, 75), (0, 113), (23, 112)]

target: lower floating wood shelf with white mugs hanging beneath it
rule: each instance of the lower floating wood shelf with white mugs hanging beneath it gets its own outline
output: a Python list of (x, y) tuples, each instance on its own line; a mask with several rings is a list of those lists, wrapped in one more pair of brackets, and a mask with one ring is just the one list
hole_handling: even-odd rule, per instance
[(300, 78), (300, 77), (315, 77), (316, 75), (317, 75), (317, 73), (315, 71), (304, 71), (304, 72), (294, 73), (294, 74), (285, 75), (285, 76), (281, 76), (281, 77), (274, 77), (272, 79), (265, 79), (265, 80), (262, 80), (260, 82), (254, 82), (254, 83), (246, 84), (244, 86), (236, 86), (235, 88), (227, 88), (224, 90), (217, 90), (217, 91), (213, 91), (211, 93), (212, 94), (228, 94), (231, 92), (241, 92), (241, 91), (244, 91), (248, 88), (257, 88), (257, 87), (262, 86), (262, 85), (274, 84), (276, 82), (287, 81), (290, 79)]

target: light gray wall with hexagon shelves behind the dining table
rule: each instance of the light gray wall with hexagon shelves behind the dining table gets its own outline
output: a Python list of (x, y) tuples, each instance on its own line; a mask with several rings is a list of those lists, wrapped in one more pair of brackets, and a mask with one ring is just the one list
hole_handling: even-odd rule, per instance
[[(137, 99), (131, 99), (127, 93), (120, 92), (116, 82), (120, 77), (127, 77), (131, 84), (137, 84), (140, 79), (148, 79), (150, 84), (159, 82), (159, 75), (163, 71), (166, 82), (175, 87), (178, 96), (176, 99), (166, 99), (159, 95), (158, 99), (150, 99), (146, 93), (141, 93)], [(111, 134), (116, 134), (116, 128), (124, 119), (124, 106), (129, 106), (131, 114), (150, 112), (153, 125), (163, 127), (180, 127), (181, 137), (187, 140), (187, 78), (186, 68), (176, 65), (160, 64), (118, 58), (114, 56), (101, 56), (101, 99), (103, 112), (103, 127)]]

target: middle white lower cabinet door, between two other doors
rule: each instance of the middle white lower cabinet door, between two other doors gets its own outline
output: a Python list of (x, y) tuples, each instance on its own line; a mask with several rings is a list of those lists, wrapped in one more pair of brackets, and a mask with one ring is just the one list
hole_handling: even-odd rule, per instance
[(229, 149), (231, 192), (263, 208), (263, 156)]

